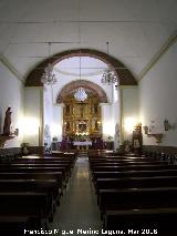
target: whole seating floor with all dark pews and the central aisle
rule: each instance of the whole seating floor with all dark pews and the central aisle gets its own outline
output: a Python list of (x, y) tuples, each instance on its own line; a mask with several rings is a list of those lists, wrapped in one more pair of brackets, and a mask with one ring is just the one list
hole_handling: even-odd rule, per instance
[(2, 235), (176, 236), (170, 158), (107, 151), (8, 157), (0, 163)]

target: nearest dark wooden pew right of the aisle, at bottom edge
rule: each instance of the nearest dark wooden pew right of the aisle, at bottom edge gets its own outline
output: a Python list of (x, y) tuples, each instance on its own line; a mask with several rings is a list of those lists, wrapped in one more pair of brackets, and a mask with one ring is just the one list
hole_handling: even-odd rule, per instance
[(108, 230), (122, 229), (125, 235), (176, 236), (176, 207), (106, 211), (104, 226)]

